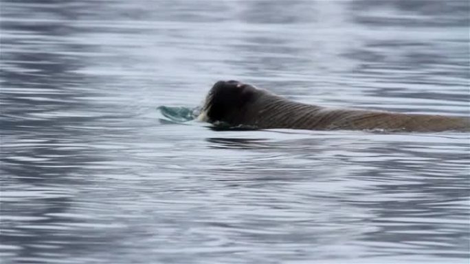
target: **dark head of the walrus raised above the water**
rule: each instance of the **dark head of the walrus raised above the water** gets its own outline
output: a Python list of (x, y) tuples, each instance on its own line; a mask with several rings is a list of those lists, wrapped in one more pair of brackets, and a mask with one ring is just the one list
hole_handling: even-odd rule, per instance
[(210, 123), (242, 123), (247, 104), (257, 97), (258, 88), (249, 84), (234, 80), (216, 82), (205, 98), (198, 119)]

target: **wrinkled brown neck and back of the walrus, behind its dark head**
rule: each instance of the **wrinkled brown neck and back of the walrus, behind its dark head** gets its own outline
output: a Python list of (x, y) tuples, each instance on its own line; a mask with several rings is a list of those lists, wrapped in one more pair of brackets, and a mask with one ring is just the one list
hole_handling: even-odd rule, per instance
[(305, 130), (470, 131), (470, 119), (466, 117), (323, 108), (270, 93), (265, 93), (245, 113), (245, 124)]

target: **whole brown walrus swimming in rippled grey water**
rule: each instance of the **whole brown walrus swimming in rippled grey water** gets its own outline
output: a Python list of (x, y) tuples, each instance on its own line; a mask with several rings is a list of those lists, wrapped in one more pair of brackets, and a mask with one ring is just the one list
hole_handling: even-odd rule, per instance
[(468, 117), (314, 106), (234, 80), (219, 81), (212, 86), (198, 119), (256, 129), (470, 131)]

